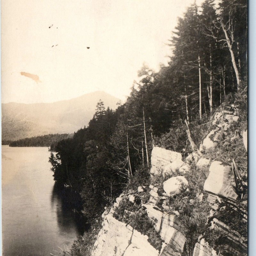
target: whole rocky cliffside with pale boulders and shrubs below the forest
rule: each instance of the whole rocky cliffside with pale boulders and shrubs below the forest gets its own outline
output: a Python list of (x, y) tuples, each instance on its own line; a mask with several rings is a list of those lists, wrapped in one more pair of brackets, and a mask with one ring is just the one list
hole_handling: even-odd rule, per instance
[(232, 159), (237, 148), (247, 154), (239, 118), (237, 106), (222, 106), (187, 157), (154, 147), (151, 185), (106, 209), (92, 255), (246, 255), (247, 169)]

